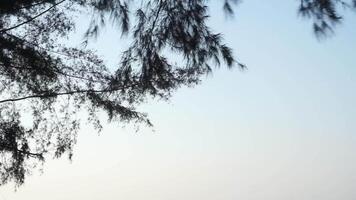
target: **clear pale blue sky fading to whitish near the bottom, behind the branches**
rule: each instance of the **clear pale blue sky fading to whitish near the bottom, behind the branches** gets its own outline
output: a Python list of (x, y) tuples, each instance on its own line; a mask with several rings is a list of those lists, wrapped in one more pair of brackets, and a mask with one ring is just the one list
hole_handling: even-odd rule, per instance
[[(154, 132), (83, 127), (72, 163), (47, 162), (0, 200), (356, 199), (356, 14), (318, 41), (297, 5), (245, 0), (226, 19), (214, 1), (209, 23), (248, 70), (142, 106)], [(115, 63), (122, 42), (102, 36)]]

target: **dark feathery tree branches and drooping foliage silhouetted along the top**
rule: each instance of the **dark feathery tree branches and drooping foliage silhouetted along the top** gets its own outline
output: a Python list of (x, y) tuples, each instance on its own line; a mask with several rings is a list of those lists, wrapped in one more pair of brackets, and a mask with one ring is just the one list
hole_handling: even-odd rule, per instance
[[(238, 0), (221, 0), (233, 13)], [(207, 26), (206, 0), (2, 0), (0, 2), (0, 185), (17, 186), (45, 158), (72, 156), (80, 127), (78, 112), (101, 129), (109, 121), (151, 126), (135, 110), (148, 98), (168, 99), (194, 86), (213, 66), (244, 68), (219, 33)], [(317, 35), (341, 20), (341, 7), (356, 0), (300, 0), (299, 12), (314, 20)], [(92, 15), (84, 44), (112, 22), (131, 45), (109, 70), (94, 51), (58, 42)], [(181, 58), (167, 59), (167, 53)]]

